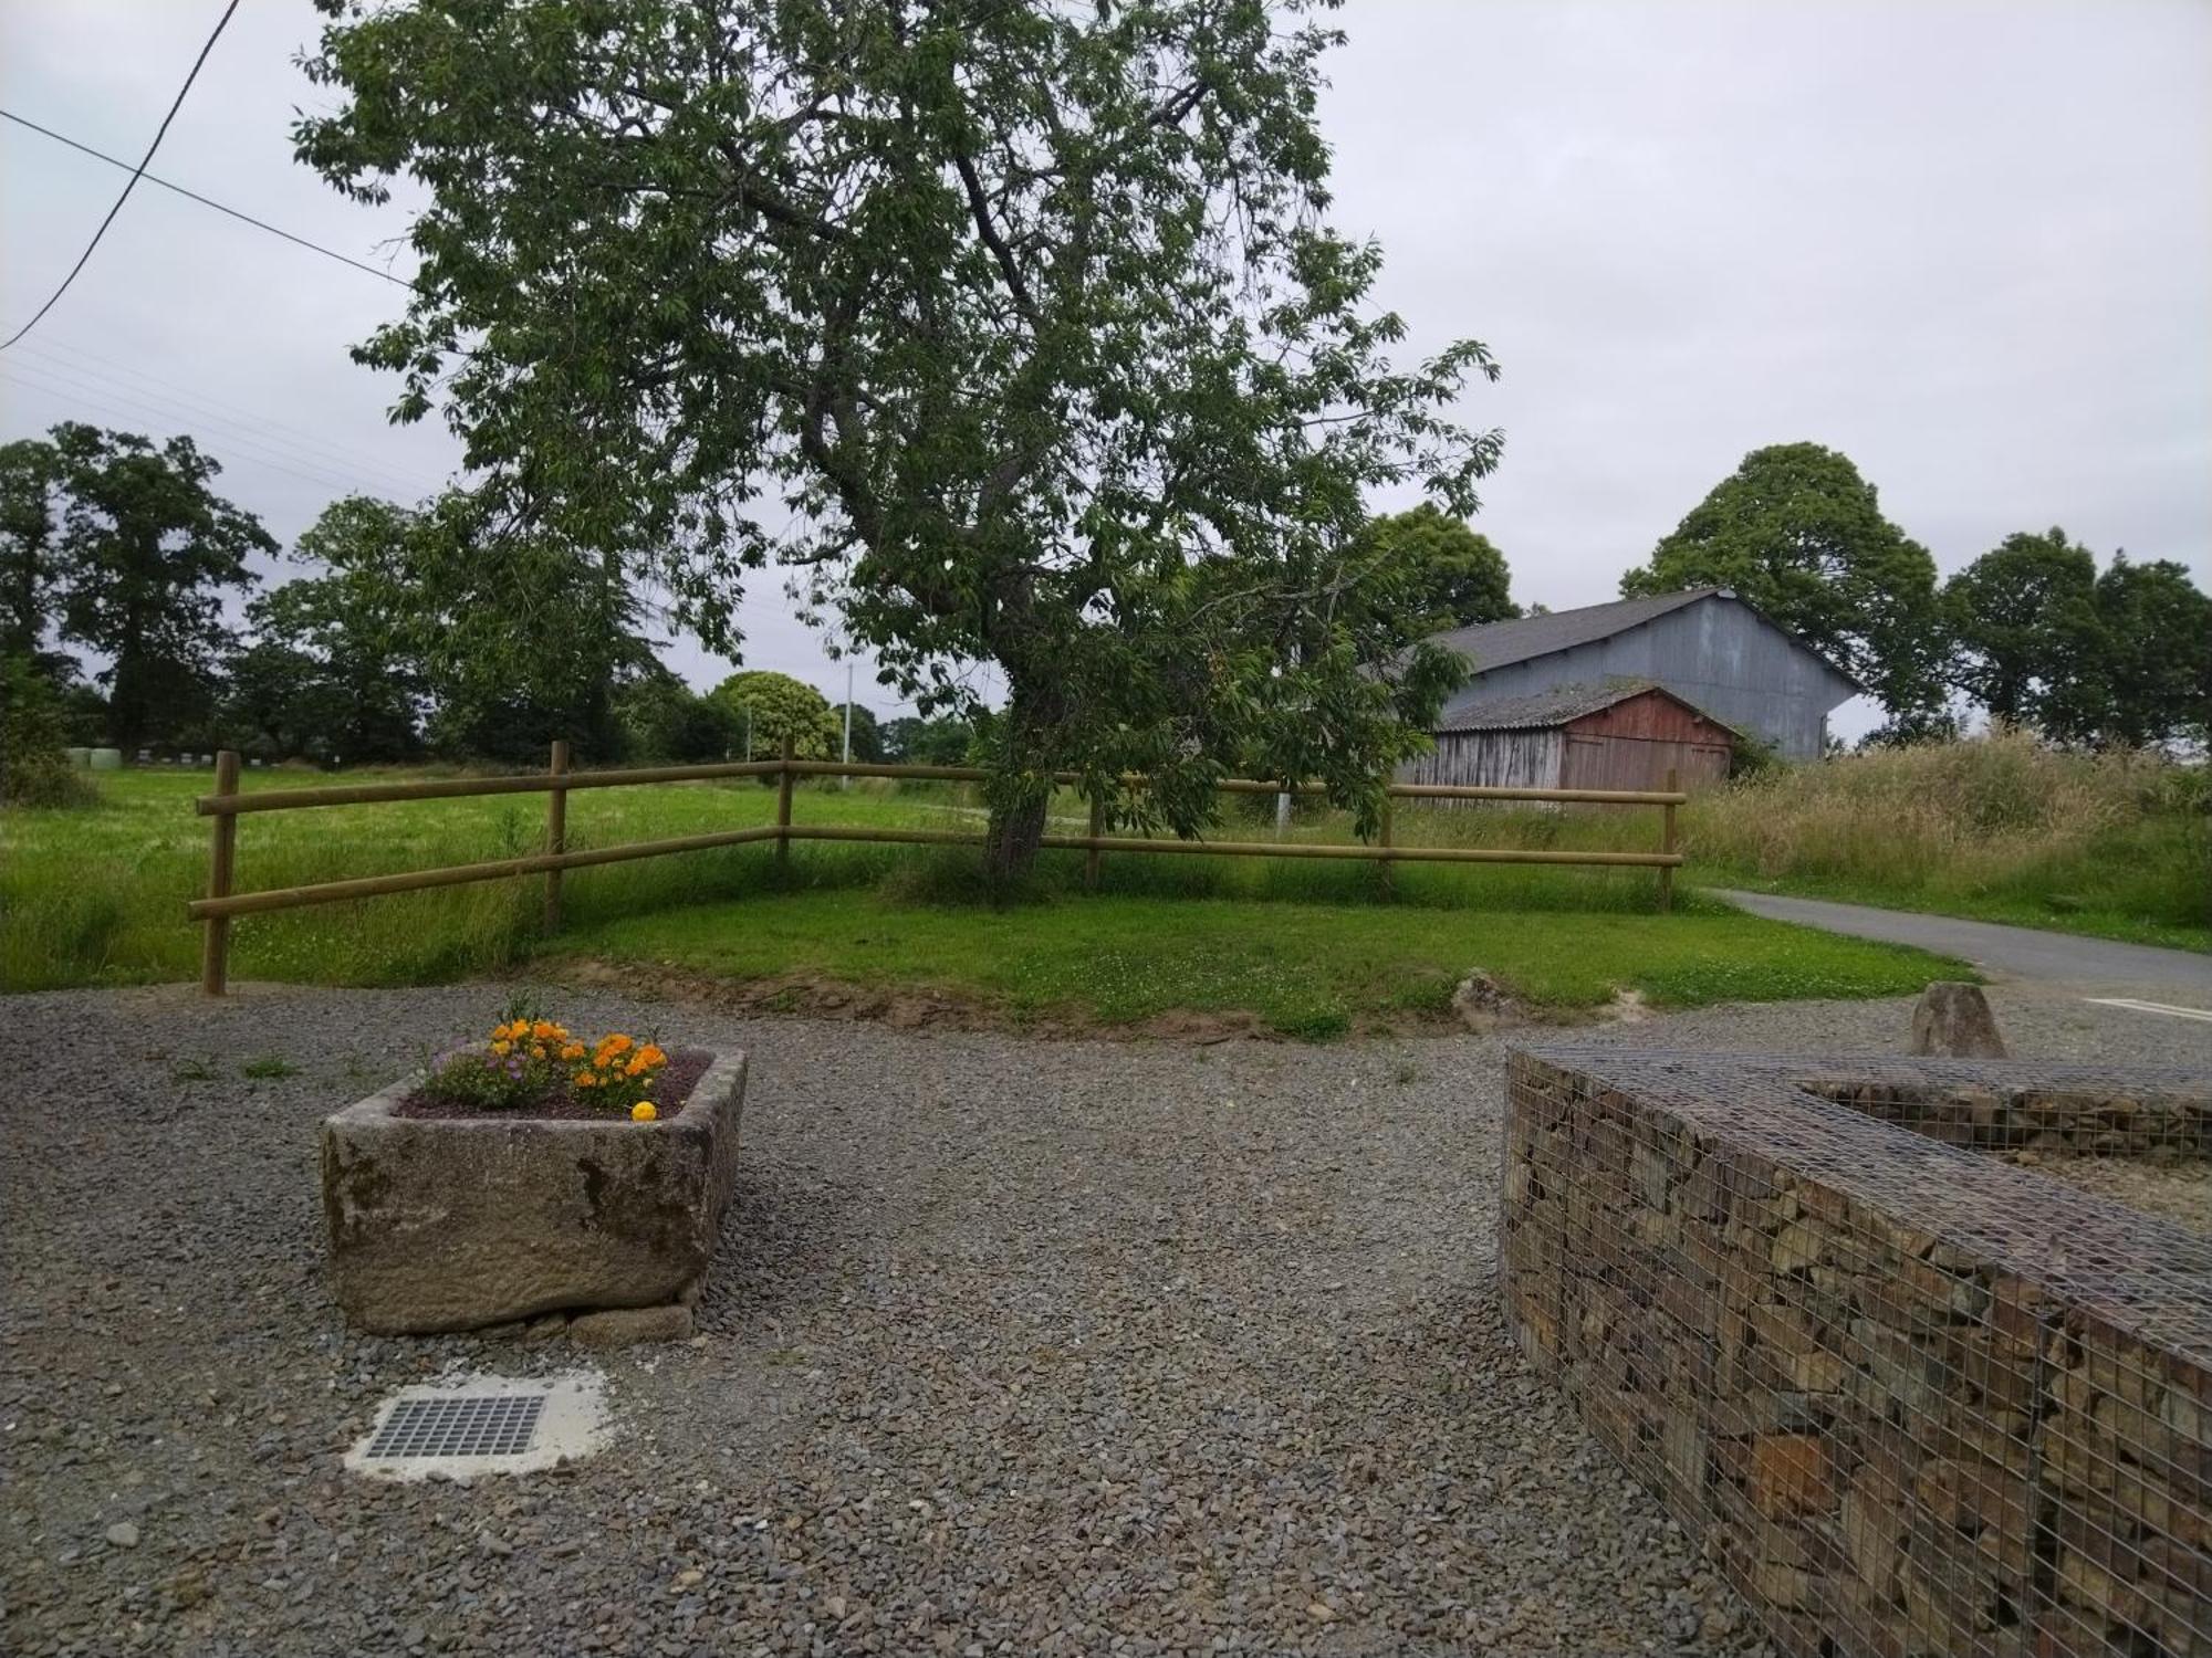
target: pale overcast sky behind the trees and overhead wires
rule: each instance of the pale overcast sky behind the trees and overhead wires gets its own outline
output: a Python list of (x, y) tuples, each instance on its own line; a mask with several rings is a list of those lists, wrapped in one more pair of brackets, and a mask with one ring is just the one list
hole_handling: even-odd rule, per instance
[[(219, 0), (0, 0), (0, 108), (137, 159)], [(1506, 433), (1482, 528), (1522, 604), (1617, 595), (1752, 449), (1847, 453), (1955, 570), (2013, 531), (2212, 588), (2212, 2), (1349, 0), (1321, 126), (1338, 228), (1385, 250), (1407, 356), (1484, 340)], [(407, 199), (292, 161), (327, 97), (307, 0), (246, 0), (153, 175), (405, 274)], [(0, 122), (0, 336), (124, 175)], [(347, 347), (405, 290), (142, 183), (0, 351), (0, 440), (190, 431), (285, 544), (334, 495), (431, 493), (438, 424)], [(1402, 506), (1383, 502), (1376, 506)], [(843, 696), (774, 577), (748, 668)], [(677, 643), (712, 683), (728, 663)], [(869, 685), (858, 701), (896, 712)], [(1849, 707), (1856, 734), (1874, 710)]]

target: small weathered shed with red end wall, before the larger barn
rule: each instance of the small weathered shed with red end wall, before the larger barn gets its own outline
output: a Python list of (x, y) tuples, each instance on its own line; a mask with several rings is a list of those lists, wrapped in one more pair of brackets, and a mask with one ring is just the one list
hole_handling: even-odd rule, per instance
[(1734, 732), (1648, 679), (1553, 685), (1473, 703), (1436, 732), (1400, 783), (1509, 789), (1697, 789), (1728, 776)]

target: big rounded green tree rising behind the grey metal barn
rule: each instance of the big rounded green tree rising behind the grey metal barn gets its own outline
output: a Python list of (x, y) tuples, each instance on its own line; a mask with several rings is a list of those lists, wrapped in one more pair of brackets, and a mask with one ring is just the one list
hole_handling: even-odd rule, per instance
[(1940, 714), (1936, 559), (1882, 517), (1874, 484), (1834, 449), (1754, 449), (1621, 577), (1626, 597), (1721, 586), (1871, 690), (1891, 723)]

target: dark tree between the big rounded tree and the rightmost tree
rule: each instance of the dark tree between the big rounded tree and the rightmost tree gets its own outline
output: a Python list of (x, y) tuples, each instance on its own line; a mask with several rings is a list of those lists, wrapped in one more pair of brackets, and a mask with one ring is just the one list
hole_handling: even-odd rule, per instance
[(2097, 559), (2066, 531), (2006, 535), (1944, 581), (1955, 654), (1951, 683), (2020, 725), (2042, 723), (2104, 654), (2097, 619)]

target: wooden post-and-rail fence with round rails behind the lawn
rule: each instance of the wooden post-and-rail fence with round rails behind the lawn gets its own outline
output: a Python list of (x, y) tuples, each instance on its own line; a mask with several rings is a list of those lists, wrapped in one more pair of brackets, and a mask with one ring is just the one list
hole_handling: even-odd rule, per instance
[[(703, 783), (710, 778), (776, 778), (776, 820), (752, 829), (723, 829), (706, 836), (679, 836), (672, 840), (630, 840), (617, 847), (591, 847), (568, 851), (568, 796), (575, 789), (626, 789), (644, 783)], [(186, 913), (199, 922), (199, 988), (223, 995), (230, 977), (230, 917), (261, 915), (279, 909), (301, 909), (305, 904), (341, 904), (352, 898), (380, 898), (385, 893), (416, 893), (427, 886), (460, 886), (476, 880), (511, 880), (515, 875), (544, 875), (544, 924), (546, 931), (560, 926), (560, 878), (568, 869), (593, 864), (619, 864), (633, 858), (664, 858), (679, 851), (708, 851), (710, 847), (745, 847), (752, 842), (776, 844), (776, 860), (787, 862), (794, 840), (874, 840), (902, 842), (916, 847), (980, 847), (984, 836), (958, 829), (860, 829), (845, 825), (792, 822), (792, 785), (799, 778), (847, 776), (847, 778), (916, 778), (938, 783), (982, 783), (984, 774), (967, 765), (860, 765), (845, 760), (799, 760), (785, 741), (776, 760), (730, 760), (723, 765), (659, 765), (619, 772), (571, 772), (568, 745), (555, 743), (551, 765), (544, 772), (498, 778), (427, 778), (420, 783), (349, 783), (330, 789), (265, 789), (239, 794), (237, 749), (215, 756), (215, 794), (204, 794), (195, 811), (215, 818), (210, 827), (208, 895), (186, 904)], [(1075, 774), (1064, 774), (1060, 783), (1079, 783)], [(1126, 778), (1141, 787), (1144, 778)], [(1380, 836), (1374, 844), (1321, 844), (1298, 840), (1144, 840), (1135, 836), (1108, 836), (1104, 831), (1104, 809), (1091, 802), (1091, 833), (1044, 836), (1040, 842), (1051, 851), (1082, 851), (1084, 880), (1097, 886), (1099, 858), (1108, 851), (1146, 853), (1203, 853), (1208, 858), (1358, 858), (1380, 864), (1385, 871), (1398, 862), (1422, 864), (1630, 864), (1659, 871), (1659, 909), (1672, 909), (1674, 869), (1681, 853), (1674, 849), (1674, 807), (1688, 800), (1668, 774), (1666, 789), (1504, 789), (1464, 787), (1444, 783), (1391, 783), (1383, 802)], [(1223, 778), (1217, 785), (1223, 794), (1321, 794), (1321, 785), (1296, 785), (1283, 789), (1281, 783), (1259, 778)], [(237, 878), (239, 818), (254, 811), (305, 811), (314, 807), (358, 807), (383, 800), (458, 800), (478, 794), (542, 794), (546, 796), (546, 849), (526, 858), (493, 858), (480, 864), (453, 864), (447, 869), (414, 869), (396, 875), (363, 875), (361, 880), (325, 880), (314, 886), (272, 886), (259, 893), (230, 891)], [(1517, 847), (1398, 847), (1391, 840), (1394, 800), (1546, 800), (1564, 805), (1599, 807), (1659, 807), (1663, 811), (1661, 851), (1566, 851), (1566, 849), (1517, 849)]]

